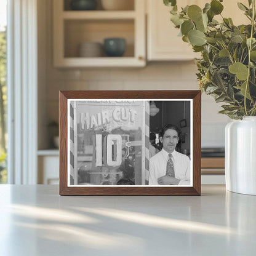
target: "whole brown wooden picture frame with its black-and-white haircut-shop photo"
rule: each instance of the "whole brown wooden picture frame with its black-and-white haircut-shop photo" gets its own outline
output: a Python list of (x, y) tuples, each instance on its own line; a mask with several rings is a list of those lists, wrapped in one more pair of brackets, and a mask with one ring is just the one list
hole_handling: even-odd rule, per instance
[(201, 194), (201, 91), (61, 91), (59, 118), (61, 195)]

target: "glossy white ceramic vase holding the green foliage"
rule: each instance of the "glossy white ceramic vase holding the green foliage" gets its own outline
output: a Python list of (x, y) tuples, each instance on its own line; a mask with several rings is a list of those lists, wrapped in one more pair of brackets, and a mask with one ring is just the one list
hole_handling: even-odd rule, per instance
[(225, 174), (226, 190), (256, 195), (256, 117), (226, 125)]

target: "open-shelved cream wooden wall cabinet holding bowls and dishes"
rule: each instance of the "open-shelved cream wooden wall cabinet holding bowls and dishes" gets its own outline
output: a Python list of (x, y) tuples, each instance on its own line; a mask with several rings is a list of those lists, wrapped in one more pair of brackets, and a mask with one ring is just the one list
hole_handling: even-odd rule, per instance
[[(134, 10), (70, 10), (70, 1), (54, 0), (54, 66), (145, 66), (145, 1), (134, 1)], [(84, 42), (103, 44), (105, 38), (124, 38), (123, 57), (79, 57)]]

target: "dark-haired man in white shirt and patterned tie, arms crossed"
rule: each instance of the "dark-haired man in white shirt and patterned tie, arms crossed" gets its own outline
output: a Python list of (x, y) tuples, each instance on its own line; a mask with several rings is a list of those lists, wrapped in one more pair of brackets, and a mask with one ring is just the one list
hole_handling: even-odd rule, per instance
[(190, 159), (175, 151), (180, 129), (166, 124), (159, 132), (162, 150), (150, 158), (149, 185), (190, 185)]

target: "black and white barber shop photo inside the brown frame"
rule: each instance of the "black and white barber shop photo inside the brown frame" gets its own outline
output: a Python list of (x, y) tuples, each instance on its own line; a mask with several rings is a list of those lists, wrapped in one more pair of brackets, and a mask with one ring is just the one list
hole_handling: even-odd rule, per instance
[(193, 186), (193, 100), (68, 100), (68, 186)]

